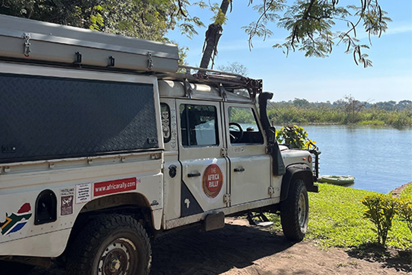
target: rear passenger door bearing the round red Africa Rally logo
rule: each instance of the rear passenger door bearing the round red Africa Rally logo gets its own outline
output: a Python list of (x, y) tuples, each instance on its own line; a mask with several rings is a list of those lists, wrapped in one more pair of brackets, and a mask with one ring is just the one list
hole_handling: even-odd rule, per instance
[(176, 100), (179, 161), (182, 165), (181, 217), (226, 207), (227, 160), (221, 156), (220, 102)]

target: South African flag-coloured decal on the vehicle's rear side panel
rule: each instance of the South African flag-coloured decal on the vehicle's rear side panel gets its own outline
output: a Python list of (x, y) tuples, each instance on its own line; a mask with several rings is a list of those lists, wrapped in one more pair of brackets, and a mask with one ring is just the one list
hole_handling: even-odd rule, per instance
[(5, 221), (0, 222), (1, 234), (8, 235), (23, 228), (27, 221), (32, 217), (30, 203), (24, 203), (17, 213), (5, 214)]

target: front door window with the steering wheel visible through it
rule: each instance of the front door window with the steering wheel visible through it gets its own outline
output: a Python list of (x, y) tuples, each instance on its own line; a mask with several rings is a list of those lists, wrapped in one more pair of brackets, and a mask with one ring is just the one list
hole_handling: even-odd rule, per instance
[(230, 143), (262, 144), (260, 132), (253, 109), (245, 107), (229, 107)]

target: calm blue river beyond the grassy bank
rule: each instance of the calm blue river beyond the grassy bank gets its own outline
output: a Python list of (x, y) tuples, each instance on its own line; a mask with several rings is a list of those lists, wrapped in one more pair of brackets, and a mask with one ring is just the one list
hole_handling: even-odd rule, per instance
[(387, 193), (412, 181), (412, 129), (304, 126), (320, 151), (320, 175), (353, 175), (352, 188)]

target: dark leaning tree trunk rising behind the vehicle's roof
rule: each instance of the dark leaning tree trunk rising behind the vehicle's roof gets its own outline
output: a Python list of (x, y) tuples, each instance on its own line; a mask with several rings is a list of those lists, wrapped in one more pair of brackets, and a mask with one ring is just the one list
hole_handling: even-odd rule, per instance
[[(222, 3), (220, 4), (220, 10), (225, 15), (227, 8), (229, 8), (229, 3), (231, 3), (231, 0), (222, 0)], [(222, 35), (222, 30), (222, 25), (216, 21), (214, 23), (211, 23), (209, 25), (209, 28), (207, 28), (205, 34), (205, 45), (203, 47), (203, 56), (200, 66), (201, 68), (207, 69), (207, 67), (209, 67), (210, 61), (214, 60), (214, 56), (216, 56), (218, 52), (218, 42), (220, 36)]]

